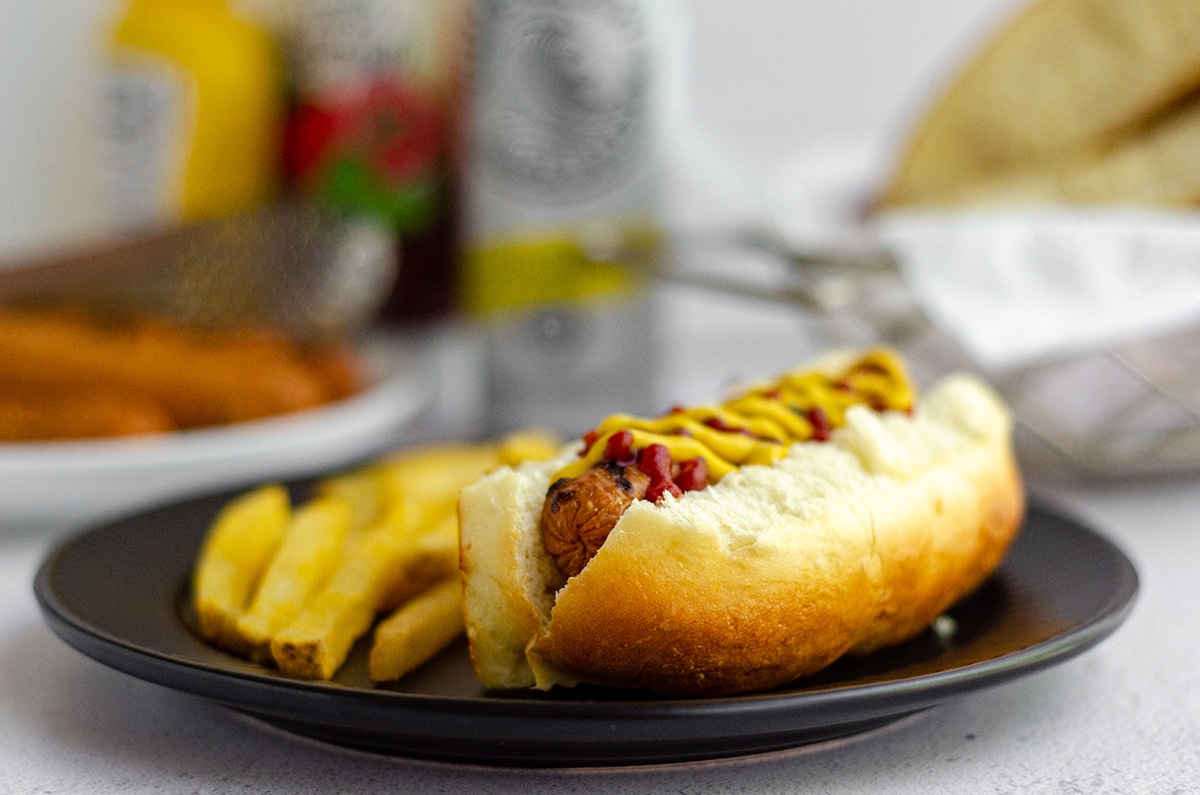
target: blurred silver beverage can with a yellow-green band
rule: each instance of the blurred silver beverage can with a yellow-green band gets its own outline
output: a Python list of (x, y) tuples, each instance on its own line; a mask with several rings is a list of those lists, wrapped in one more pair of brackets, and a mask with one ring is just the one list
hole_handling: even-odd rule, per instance
[(587, 430), (659, 410), (644, 262), (661, 229), (662, 20), (641, 0), (478, 0), (463, 303), (491, 426)]

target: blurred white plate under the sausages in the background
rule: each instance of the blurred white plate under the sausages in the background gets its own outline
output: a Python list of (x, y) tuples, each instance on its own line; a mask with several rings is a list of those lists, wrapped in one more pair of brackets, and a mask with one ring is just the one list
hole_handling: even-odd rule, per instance
[(0, 533), (50, 533), (176, 497), (348, 466), (382, 453), (432, 400), (430, 364), (396, 339), (362, 353), (346, 400), (222, 428), (127, 440), (0, 444)]

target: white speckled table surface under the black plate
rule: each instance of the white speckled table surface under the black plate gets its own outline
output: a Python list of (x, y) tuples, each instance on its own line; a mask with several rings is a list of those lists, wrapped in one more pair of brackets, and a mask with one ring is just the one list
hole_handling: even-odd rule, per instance
[[(707, 390), (748, 361), (775, 366), (806, 333), (781, 311), (686, 300), (671, 309), (691, 317), (702, 310), (706, 328), (724, 341), (698, 369), (696, 358), (667, 366), (665, 378), (684, 391)], [(668, 348), (691, 334), (676, 325)], [(457, 358), (448, 357), (445, 378), (461, 384), (472, 360), (448, 351)], [(412, 434), (437, 432), (445, 419), (431, 417)], [(0, 793), (1200, 791), (1200, 476), (1032, 490), (1115, 540), (1139, 570), (1130, 617), (1099, 646), (858, 737), (750, 759), (606, 771), (344, 751), (116, 673), (59, 640), (38, 614), (31, 582), (52, 538), (7, 532), (0, 537)]]

